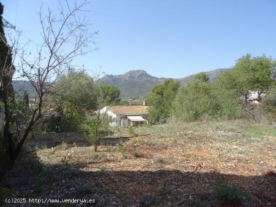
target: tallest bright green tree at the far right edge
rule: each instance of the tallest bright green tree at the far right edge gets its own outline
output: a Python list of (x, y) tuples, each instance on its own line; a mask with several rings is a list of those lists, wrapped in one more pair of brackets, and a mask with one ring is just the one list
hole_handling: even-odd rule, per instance
[[(217, 84), (235, 97), (243, 97), (247, 101), (250, 91), (266, 93), (275, 80), (275, 61), (265, 55), (251, 57), (250, 54), (242, 56), (236, 61), (233, 70), (224, 73), (217, 79)], [(261, 97), (258, 97), (259, 101)]]

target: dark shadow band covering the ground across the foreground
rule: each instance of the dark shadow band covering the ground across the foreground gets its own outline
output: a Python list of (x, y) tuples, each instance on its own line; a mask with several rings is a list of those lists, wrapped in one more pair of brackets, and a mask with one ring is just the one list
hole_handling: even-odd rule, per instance
[[(241, 202), (227, 203), (216, 197), (214, 189), (219, 179), (240, 190)], [(275, 176), (238, 176), (173, 169), (99, 168), (88, 171), (82, 163), (43, 165), (36, 153), (18, 160), (0, 186), (4, 197), (86, 198), (95, 199), (96, 206), (276, 206)], [(26, 206), (45, 205), (28, 203)], [(47, 205), (56, 206), (55, 203)], [(89, 204), (82, 204), (86, 205)]]

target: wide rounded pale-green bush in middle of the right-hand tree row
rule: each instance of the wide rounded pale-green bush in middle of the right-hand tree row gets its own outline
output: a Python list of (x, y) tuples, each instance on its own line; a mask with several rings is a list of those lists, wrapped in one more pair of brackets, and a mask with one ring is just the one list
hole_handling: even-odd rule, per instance
[(173, 109), (174, 115), (183, 121), (205, 117), (237, 118), (242, 114), (231, 94), (201, 79), (195, 79), (188, 86), (180, 88)]

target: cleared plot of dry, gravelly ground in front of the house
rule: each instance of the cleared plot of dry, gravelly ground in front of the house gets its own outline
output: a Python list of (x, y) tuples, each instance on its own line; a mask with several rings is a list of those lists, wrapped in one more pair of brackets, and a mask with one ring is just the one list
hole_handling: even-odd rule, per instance
[[(2, 190), (11, 197), (91, 198), (98, 206), (276, 205), (275, 125), (201, 122), (135, 132), (149, 135), (102, 141), (99, 152), (81, 133), (38, 135), (32, 147), (40, 149), (19, 161)], [(123, 135), (127, 129), (110, 136)], [(220, 179), (226, 191), (238, 189), (239, 202), (217, 195)]]

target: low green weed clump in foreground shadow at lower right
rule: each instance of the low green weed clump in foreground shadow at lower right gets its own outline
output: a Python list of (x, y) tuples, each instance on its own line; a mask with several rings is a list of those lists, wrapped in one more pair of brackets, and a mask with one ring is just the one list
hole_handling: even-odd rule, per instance
[(225, 184), (223, 179), (218, 180), (215, 184), (215, 194), (218, 200), (233, 202), (233, 204), (234, 202), (235, 204), (240, 204), (246, 198), (240, 189)]

